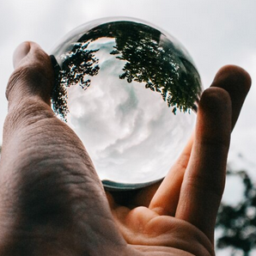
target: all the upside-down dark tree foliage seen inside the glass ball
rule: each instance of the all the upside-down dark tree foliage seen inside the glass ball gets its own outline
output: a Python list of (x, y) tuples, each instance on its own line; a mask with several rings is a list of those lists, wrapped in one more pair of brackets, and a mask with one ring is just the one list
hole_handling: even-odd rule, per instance
[[(115, 21), (102, 24), (85, 32), (70, 52), (64, 52), (62, 69), (57, 65), (56, 86), (52, 94), (52, 105), (56, 113), (65, 118), (68, 113), (67, 88), (79, 84), (88, 88), (90, 80), (84, 76), (96, 76), (100, 67), (88, 45), (101, 38), (115, 39), (116, 46), (109, 52), (125, 61), (120, 79), (127, 82), (143, 82), (145, 88), (162, 94), (163, 101), (186, 112), (196, 110), (201, 82), (198, 71), (186, 59), (184, 52), (165, 38), (157, 29), (131, 21)], [(164, 39), (162, 39), (164, 38)]]

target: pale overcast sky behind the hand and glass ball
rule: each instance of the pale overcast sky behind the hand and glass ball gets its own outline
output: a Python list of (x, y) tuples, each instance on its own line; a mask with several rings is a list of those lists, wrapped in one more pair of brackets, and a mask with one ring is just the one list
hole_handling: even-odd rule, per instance
[[(12, 54), (24, 40), (33, 40), (50, 53), (64, 34), (84, 22), (107, 16), (136, 17), (162, 27), (180, 40), (192, 55), (207, 88), (216, 71), (225, 64), (240, 65), (256, 80), (255, 10), (254, 0), (1, 1), (0, 126), (7, 113), (5, 86), (13, 70)], [(253, 86), (233, 132), (229, 154), (229, 166), (246, 169), (253, 179), (256, 178), (256, 172), (253, 173), (256, 169), (255, 94)], [(242, 192), (239, 179), (231, 177), (224, 201), (237, 204)]]

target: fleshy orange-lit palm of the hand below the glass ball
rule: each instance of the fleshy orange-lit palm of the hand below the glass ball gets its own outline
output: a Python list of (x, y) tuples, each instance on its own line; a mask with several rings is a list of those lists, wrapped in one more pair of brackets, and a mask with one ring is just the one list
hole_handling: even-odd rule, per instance
[(146, 255), (214, 255), (199, 229), (173, 216), (159, 216), (141, 206), (133, 210), (119, 206), (113, 216), (125, 241)]

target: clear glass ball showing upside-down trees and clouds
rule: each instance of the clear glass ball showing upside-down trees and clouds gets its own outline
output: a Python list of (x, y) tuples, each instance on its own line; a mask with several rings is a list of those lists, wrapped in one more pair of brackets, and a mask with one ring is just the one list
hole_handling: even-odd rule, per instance
[(92, 21), (52, 52), (52, 108), (76, 131), (104, 186), (161, 180), (191, 135), (201, 82), (185, 48), (130, 19)]

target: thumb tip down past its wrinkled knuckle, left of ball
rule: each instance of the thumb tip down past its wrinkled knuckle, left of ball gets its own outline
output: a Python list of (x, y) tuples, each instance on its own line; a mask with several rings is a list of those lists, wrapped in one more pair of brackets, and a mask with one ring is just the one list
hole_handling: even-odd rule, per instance
[(54, 76), (46, 52), (34, 42), (24, 42), (16, 48), (13, 64), (15, 70), (6, 88), (9, 104), (36, 96), (50, 105)]

